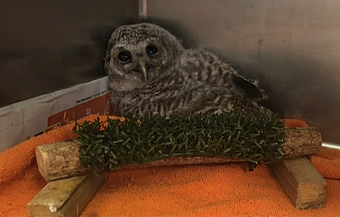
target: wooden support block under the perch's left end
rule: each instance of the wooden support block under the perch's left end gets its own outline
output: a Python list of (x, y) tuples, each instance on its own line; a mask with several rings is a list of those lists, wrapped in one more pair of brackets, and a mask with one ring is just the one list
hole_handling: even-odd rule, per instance
[(29, 203), (30, 217), (78, 217), (103, 184), (105, 174), (55, 180)]

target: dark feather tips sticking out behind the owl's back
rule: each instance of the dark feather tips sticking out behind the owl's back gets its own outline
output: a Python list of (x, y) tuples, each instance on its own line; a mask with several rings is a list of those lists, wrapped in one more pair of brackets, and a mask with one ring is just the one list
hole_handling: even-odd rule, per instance
[(266, 92), (256, 85), (256, 82), (251, 79), (244, 78), (241, 75), (235, 75), (233, 82), (241, 89), (243, 89), (247, 96), (254, 101), (268, 100)]

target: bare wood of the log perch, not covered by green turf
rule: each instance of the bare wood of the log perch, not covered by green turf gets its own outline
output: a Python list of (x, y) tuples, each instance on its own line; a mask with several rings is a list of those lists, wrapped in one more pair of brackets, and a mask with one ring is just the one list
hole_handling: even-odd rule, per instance
[[(321, 134), (316, 128), (290, 128), (284, 129), (284, 131), (287, 133), (285, 142), (282, 145), (283, 150), (286, 151), (283, 156), (285, 159), (293, 159), (316, 154), (322, 147)], [(39, 171), (46, 181), (49, 182), (55, 179), (79, 176), (92, 171), (91, 169), (81, 166), (79, 161), (79, 146), (80, 143), (73, 140), (72, 142), (58, 142), (55, 144), (38, 146), (36, 148), (36, 160)], [(142, 164), (126, 165), (119, 168), (224, 163), (236, 161), (239, 162), (244, 160), (221, 156), (187, 156), (172, 157)]]

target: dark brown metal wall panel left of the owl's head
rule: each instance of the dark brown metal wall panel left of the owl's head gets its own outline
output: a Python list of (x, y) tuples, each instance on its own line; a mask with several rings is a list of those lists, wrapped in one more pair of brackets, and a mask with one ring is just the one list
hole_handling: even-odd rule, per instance
[(105, 75), (107, 39), (136, 0), (2, 0), (0, 106)]

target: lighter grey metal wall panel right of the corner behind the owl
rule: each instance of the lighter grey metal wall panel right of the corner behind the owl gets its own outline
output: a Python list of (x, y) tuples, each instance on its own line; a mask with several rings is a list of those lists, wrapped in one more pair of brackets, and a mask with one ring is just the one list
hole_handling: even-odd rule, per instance
[[(143, 1), (143, 0), (142, 0)], [(144, 0), (145, 1), (145, 0)], [(259, 79), (269, 106), (340, 143), (339, 0), (147, 0), (148, 21)]]

